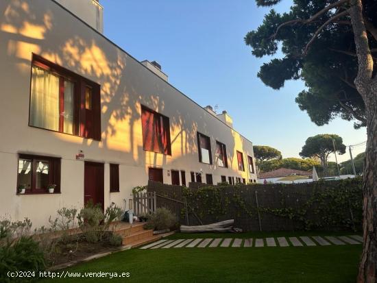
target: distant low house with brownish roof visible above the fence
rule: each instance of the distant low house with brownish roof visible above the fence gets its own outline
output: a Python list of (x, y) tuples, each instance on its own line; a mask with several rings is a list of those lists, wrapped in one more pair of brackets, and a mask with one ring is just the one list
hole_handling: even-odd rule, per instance
[(258, 183), (303, 183), (313, 182), (312, 171), (301, 171), (288, 168), (280, 168), (269, 172), (260, 173)]

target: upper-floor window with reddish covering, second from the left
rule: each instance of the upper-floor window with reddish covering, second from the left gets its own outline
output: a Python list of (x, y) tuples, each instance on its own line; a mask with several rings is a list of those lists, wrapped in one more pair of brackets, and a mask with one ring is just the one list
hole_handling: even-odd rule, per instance
[(141, 106), (143, 149), (171, 155), (169, 118)]

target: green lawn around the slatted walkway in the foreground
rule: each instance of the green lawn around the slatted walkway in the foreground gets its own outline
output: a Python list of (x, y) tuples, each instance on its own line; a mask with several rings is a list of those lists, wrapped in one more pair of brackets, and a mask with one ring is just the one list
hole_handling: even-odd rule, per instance
[[(284, 236), (319, 233), (282, 233)], [(325, 233), (330, 235), (331, 233)], [(334, 233), (332, 233), (334, 234)], [(335, 233), (344, 234), (344, 233)], [(350, 233), (345, 233), (350, 234)], [(247, 238), (263, 234), (234, 234)], [(324, 235), (324, 234), (322, 234)], [(183, 238), (194, 234), (175, 234)], [(206, 234), (200, 234), (201, 238)], [(210, 234), (211, 238), (218, 234)], [(221, 236), (230, 236), (230, 234)], [(269, 233), (267, 236), (280, 236)], [(130, 249), (93, 260), (67, 271), (130, 272), (130, 278), (109, 282), (355, 282), (361, 245), (326, 247), (216, 247)], [(80, 278), (80, 282), (108, 282), (104, 278)], [(41, 282), (51, 282), (42, 280)], [(53, 282), (79, 282), (77, 278), (55, 279)]]

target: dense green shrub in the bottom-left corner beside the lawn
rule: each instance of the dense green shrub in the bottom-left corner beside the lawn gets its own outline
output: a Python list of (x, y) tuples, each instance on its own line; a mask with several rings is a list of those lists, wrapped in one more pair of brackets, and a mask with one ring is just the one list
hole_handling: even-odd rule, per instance
[[(45, 255), (39, 244), (30, 236), (21, 236), (18, 241), (0, 247), (0, 282), (11, 282), (8, 271), (39, 271), (46, 267)], [(18, 282), (29, 282), (30, 278)]]

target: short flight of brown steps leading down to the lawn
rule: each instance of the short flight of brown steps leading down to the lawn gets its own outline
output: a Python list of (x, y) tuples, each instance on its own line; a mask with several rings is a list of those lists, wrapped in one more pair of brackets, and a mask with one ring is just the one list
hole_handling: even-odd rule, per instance
[(143, 225), (145, 223), (136, 222), (133, 224), (121, 221), (114, 222), (112, 230), (115, 234), (123, 238), (122, 245), (138, 247), (147, 243), (160, 240), (161, 236), (154, 235), (153, 230), (145, 230)]

